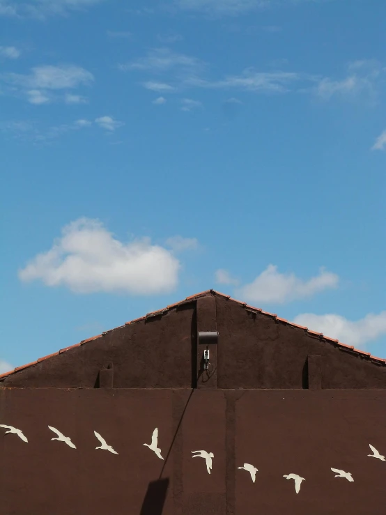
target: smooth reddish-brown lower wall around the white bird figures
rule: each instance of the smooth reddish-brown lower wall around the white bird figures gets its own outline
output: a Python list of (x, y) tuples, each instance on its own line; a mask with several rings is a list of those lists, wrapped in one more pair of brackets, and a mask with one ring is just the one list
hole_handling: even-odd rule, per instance
[[(0, 429), (0, 514), (385, 515), (386, 462), (367, 457), (369, 443), (386, 454), (385, 403), (376, 390), (3, 388), (1, 423), (29, 443)], [(164, 461), (142, 445), (155, 426)], [(95, 450), (94, 430), (119, 454)], [(211, 475), (196, 449), (215, 454)]]

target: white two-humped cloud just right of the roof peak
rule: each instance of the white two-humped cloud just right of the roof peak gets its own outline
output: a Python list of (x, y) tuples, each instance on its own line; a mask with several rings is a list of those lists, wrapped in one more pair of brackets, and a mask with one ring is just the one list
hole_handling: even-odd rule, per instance
[(323, 268), (319, 275), (304, 281), (294, 274), (281, 274), (277, 271), (277, 266), (269, 265), (252, 283), (238, 289), (237, 295), (247, 302), (281, 304), (336, 288), (338, 282), (339, 277), (336, 274)]

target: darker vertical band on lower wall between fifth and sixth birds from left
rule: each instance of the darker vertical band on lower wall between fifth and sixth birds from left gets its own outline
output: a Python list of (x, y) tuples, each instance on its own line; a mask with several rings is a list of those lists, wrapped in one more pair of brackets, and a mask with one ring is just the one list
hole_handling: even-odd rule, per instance
[(226, 515), (235, 514), (236, 506), (236, 395), (226, 392), (225, 449), (226, 449)]

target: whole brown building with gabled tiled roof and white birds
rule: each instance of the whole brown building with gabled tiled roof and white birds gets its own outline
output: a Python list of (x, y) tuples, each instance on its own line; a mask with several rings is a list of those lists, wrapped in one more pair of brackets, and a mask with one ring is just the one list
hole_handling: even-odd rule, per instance
[(0, 424), (1, 515), (386, 514), (386, 361), (215, 291), (3, 374)]

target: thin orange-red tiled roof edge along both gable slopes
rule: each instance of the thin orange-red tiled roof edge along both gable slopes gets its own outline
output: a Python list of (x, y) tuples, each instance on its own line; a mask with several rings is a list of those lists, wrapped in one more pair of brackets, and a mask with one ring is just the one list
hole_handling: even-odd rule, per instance
[(102, 335), (98, 335), (98, 336), (94, 336), (94, 337), (88, 338), (86, 340), (82, 340), (82, 341), (79, 342), (79, 344), (75, 344), (75, 345), (71, 345), (69, 347), (61, 348), (56, 353), (52, 353), (52, 354), (49, 354), (47, 356), (43, 356), (43, 358), (39, 358), (36, 361), (24, 364), (24, 365), (22, 365), (22, 367), (16, 367), (14, 370), (10, 370), (9, 372), (6, 372), (5, 374), (1, 374), (0, 375), (0, 381), (3, 378), (6, 378), (6, 377), (10, 376), (11, 374), (15, 374), (15, 372), (17, 372), (19, 370), (26, 369), (27, 367), (31, 367), (32, 365), (40, 363), (43, 360), (47, 360), (48, 358), (52, 358), (52, 356), (56, 356), (58, 354), (64, 353), (66, 351), (69, 351), (71, 348), (79, 347), (79, 346), (84, 345), (84, 344), (86, 344), (86, 343), (88, 343), (90, 341), (93, 341), (95, 339), (101, 338), (103, 335), (106, 335), (108, 332), (111, 332), (111, 331), (114, 331), (116, 329), (122, 328), (125, 325), (132, 325), (134, 323), (145, 321), (147, 318), (152, 318), (153, 316), (162, 316), (163, 314), (167, 313), (170, 309), (176, 308), (176, 307), (178, 307), (180, 305), (183, 305), (183, 304), (185, 304), (187, 302), (191, 302), (193, 300), (196, 300), (196, 299), (198, 299), (200, 297), (203, 297), (203, 296), (209, 295), (209, 294), (218, 295), (219, 297), (223, 297), (223, 298), (226, 298), (226, 299), (229, 299), (229, 300), (233, 300), (233, 302), (237, 302), (238, 305), (244, 307), (249, 312), (256, 313), (256, 314), (257, 313), (258, 314), (262, 314), (264, 316), (270, 316), (271, 318), (274, 318), (275, 321), (277, 321), (278, 323), (283, 323), (284, 325), (291, 325), (294, 328), (298, 328), (300, 330), (303, 330), (303, 331), (307, 332), (307, 335), (309, 335), (311, 337), (314, 337), (314, 338), (318, 338), (321, 341), (327, 341), (327, 342), (329, 342), (331, 344), (334, 344), (338, 348), (341, 348), (341, 350), (343, 350), (343, 351), (349, 351), (349, 352), (352, 352), (352, 353), (356, 353), (357, 355), (362, 356), (362, 358), (366, 358), (367, 360), (370, 360), (370, 361), (372, 361), (372, 362), (374, 362), (376, 364), (383, 364), (383, 365), (386, 364), (386, 360), (383, 359), (383, 358), (376, 358), (376, 356), (371, 355), (371, 353), (366, 353), (364, 351), (360, 351), (357, 348), (354, 348), (353, 346), (342, 344), (337, 339), (327, 337), (327, 336), (325, 336), (325, 335), (323, 335), (322, 333), (319, 333), (319, 332), (311, 331), (311, 330), (309, 330), (309, 328), (306, 328), (306, 327), (304, 327), (302, 325), (297, 325), (295, 323), (289, 322), (285, 318), (280, 318), (279, 316), (277, 316), (277, 314), (265, 312), (265, 311), (263, 311), (263, 309), (260, 309), (258, 307), (249, 306), (249, 305), (247, 305), (246, 302), (240, 302), (240, 300), (236, 300), (236, 299), (231, 298), (230, 295), (224, 295), (224, 293), (219, 293), (218, 291), (215, 291), (215, 290), (207, 290), (207, 291), (201, 291), (201, 293), (196, 293), (196, 295), (190, 295), (190, 297), (187, 297), (184, 300), (181, 300), (180, 302), (176, 302), (175, 304), (171, 304), (171, 305), (167, 306), (164, 309), (159, 309), (156, 312), (148, 313), (145, 316), (141, 316), (140, 318), (135, 318), (135, 320), (132, 320), (130, 322), (126, 322), (124, 325), (121, 325), (118, 328), (114, 328), (114, 329), (111, 329), (109, 331), (103, 332)]

